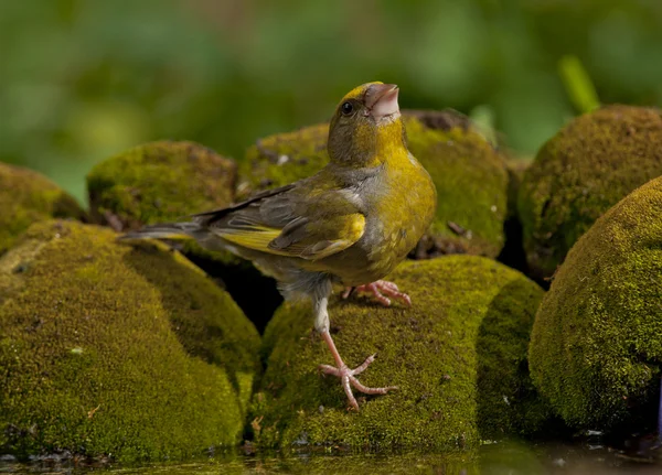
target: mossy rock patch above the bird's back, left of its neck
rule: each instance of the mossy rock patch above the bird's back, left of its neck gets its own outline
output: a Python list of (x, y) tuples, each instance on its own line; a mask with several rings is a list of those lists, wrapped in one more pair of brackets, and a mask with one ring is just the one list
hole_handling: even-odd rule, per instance
[(246, 151), (239, 165), (237, 194), (241, 198), (313, 175), (329, 162), (329, 125), (260, 139)]

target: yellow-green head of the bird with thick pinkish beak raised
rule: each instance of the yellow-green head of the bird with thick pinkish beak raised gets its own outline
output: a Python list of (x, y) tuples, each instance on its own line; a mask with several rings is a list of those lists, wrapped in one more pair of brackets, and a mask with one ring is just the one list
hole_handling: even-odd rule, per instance
[(329, 127), (332, 162), (371, 166), (398, 148), (406, 150), (397, 95), (394, 84), (367, 83), (342, 98)]

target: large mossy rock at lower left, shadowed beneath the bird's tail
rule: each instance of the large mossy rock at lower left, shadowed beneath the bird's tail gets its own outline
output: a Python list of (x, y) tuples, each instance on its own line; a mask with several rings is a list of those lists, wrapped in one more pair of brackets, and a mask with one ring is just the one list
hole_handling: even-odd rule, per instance
[(0, 259), (0, 452), (175, 460), (239, 441), (259, 337), (164, 245), (34, 225)]

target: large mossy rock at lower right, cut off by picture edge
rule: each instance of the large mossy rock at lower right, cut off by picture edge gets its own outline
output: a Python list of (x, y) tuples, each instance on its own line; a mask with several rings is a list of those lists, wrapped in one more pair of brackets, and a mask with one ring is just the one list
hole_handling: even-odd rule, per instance
[(662, 177), (623, 198), (573, 247), (536, 315), (530, 357), (536, 386), (569, 424), (655, 420)]

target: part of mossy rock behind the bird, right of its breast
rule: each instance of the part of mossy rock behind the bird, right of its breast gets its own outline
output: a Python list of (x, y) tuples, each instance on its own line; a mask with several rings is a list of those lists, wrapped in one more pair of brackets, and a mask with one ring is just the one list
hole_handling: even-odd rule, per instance
[(405, 123), (409, 150), (437, 186), (437, 215), (416, 257), (499, 256), (508, 214), (504, 158), (457, 112), (413, 111)]

